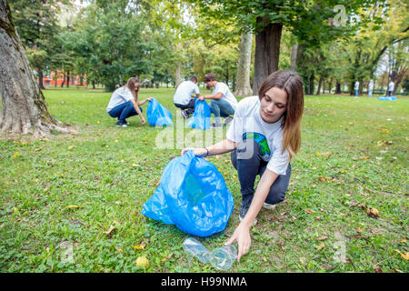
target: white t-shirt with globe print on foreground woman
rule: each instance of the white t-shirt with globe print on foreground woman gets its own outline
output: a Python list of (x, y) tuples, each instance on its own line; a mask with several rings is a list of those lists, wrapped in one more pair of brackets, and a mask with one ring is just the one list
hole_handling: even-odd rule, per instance
[(267, 168), (277, 175), (285, 175), (290, 155), (287, 150), (282, 153), (282, 123), (283, 117), (274, 124), (265, 123), (260, 115), (258, 95), (245, 97), (235, 109), (226, 138), (235, 143), (254, 139), (261, 146), (262, 158), (268, 162)]

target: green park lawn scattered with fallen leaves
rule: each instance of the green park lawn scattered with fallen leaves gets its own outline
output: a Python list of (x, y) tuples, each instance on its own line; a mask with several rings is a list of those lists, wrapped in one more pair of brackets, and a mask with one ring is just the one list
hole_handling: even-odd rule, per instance
[[(140, 97), (156, 97), (176, 117), (173, 93), (142, 89)], [(218, 272), (186, 256), (188, 235), (141, 215), (181, 148), (161, 149), (155, 140), (162, 129), (142, 126), (138, 116), (115, 127), (102, 90), (44, 94), (52, 115), (78, 134), (0, 140), (0, 271)], [(229, 272), (408, 272), (408, 112), (407, 97), (305, 96), (286, 199), (274, 211), (262, 209), (250, 252)], [(214, 142), (223, 137), (215, 134)], [(234, 196), (225, 230), (195, 237), (213, 249), (239, 223), (240, 187), (229, 155), (207, 159)], [(367, 207), (379, 217), (367, 216)], [(71, 261), (65, 244), (74, 248)], [(138, 256), (146, 256), (147, 268), (135, 265)]]

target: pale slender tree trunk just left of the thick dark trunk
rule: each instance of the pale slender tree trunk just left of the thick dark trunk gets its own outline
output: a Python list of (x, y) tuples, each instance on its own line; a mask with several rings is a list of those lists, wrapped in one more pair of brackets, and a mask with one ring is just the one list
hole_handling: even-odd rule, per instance
[(250, 65), (252, 62), (252, 33), (243, 33), (239, 45), (239, 62), (237, 66), (237, 85), (234, 89), (236, 96), (248, 96), (253, 94), (250, 85)]

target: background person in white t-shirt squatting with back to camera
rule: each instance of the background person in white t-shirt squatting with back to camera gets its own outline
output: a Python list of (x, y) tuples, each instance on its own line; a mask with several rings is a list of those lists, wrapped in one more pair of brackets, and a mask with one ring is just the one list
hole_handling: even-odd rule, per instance
[(199, 97), (200, 91), (197, 86), (197, 77), (192, 75), (189, 80), (182, 82), (177, 86), (174, 95), (175, 106), (180, 108), (182, 116), (187, 119), (189, 115), (195, 112), (195, 98)]

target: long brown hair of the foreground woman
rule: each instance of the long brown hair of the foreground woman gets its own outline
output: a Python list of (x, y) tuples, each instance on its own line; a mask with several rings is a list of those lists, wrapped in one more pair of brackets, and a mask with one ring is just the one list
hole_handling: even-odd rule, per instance
[(265, 92), (273, 87), (287, 93), (287, 109), (283, 121), (283, 152), (288, 150), (290, 160), (298, 153), (301, 146), (301, 117), (304, 112), (303, 80), (293, 71), (276, 71), (269, 75), (260, 86), (258, 96), (264, 98)]

